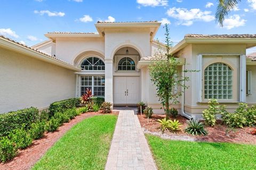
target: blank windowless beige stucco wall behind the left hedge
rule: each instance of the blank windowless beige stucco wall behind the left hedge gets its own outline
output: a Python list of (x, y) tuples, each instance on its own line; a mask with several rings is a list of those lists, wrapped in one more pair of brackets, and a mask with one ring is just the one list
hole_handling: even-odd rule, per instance
[(0, 48), (0, 113), (75, 97), (74, 71)]

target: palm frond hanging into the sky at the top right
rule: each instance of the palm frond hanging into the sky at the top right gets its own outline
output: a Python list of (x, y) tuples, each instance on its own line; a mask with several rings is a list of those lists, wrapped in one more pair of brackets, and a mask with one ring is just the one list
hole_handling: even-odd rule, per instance
[(223, 27), (223, 21), (228, 16), (229, 12), (234, 9), (241, 0), (219, 0), (215, 20)]

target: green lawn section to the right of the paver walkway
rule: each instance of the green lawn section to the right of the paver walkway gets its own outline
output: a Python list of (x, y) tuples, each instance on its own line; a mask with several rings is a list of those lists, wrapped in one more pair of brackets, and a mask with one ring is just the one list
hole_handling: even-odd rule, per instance
[(146, 138), (159, 169), (256, 169), (253, 145)]

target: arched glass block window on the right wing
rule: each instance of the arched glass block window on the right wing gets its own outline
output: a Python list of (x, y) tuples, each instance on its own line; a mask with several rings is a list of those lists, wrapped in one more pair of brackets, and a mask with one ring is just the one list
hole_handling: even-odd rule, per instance
[(204, 70), (205, 99), (233, 99), (233, 71), (223, 63), (213, 63)]

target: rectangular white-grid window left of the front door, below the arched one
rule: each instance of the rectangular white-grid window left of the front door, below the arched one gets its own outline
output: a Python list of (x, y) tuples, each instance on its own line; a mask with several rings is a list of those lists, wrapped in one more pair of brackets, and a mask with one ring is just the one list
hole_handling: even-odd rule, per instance
[(86, 88), (92, 90), (93, 96), (105, 96), (105, 77), (101, 75), (81, 75), (81, 96), (85, 94)]

